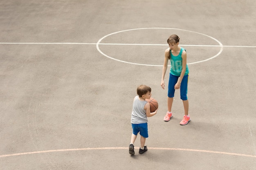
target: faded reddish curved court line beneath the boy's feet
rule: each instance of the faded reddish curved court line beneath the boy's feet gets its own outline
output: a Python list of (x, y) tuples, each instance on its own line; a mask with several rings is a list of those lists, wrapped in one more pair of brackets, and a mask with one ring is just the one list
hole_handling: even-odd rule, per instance
[[(125, 150), (125, 149), (128, 149), (128, 147), (76, 148), (76, 149), (42, 150), (42, 151), (35, 151), (35, 152), (23, 152), (23, 153), (0, 155), (0, 157), (11, 157), (11, 156), (39, 154), (39, 153), (48, 153), (48, 152), (67, 152), (67, 151), (76, 151), (76, 150), (108, 150), (108, 149), (124, 149)], [(135, 149), (139, 149), (139, 147), (135, 147)], [(148, 149), (181, 150), (181, 151), (188, 151), (188, 152), (206, 152), (206, 153), (213, 153), (213, 154), (236, 155), (236, 156), (242, 156), (242, 157), (254, 157), (254, 158), (256, 158), (256, 155), (245, 155), (245, 154), (239, 154), (239, 153), (218, 152), (218, 151), (212, 151), (212, 150), (197, 150), (197, 149), (184, 149), (184, 148), (149, 148), (149, 147), (148, 147)]]

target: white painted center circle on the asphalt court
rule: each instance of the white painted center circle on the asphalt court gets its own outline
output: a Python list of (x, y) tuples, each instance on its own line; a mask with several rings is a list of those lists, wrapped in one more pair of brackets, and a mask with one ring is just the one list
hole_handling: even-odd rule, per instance
[[(175, 29), (175, 28), (139, 28), (139, 29), (127, 29), (127, 30), (123, 30), (123, 31), (117, 31), (117, 32), (115, 32), (115, 33), (110, 33), (110, 34), (108, 34), (108, 35), (105, 35), (104, 37), (102, 37), (101, 39), (99, 39), (99, 41), (98, 41), (97, 44), (96, 44), (97, 50), (98, 50), (102, 55), (104, 55), (104, 56), (106, 56), (106, 57), (108, 57), (108, 58), (110, 58), (110, 59), (112, 59), (112, 60), (119, 61), (119, 62), (124, 62), (124, 63), (128, 63), (128, 64), (142, 65), (142, 66), (163, 66), (163, 65), (139, 64), (139, 63), (133, 63), (133, 62), (126, 62), (126, 61), (123, 61), (123, 60), (118, 60), (118, 59), (116, 59), (116, 58), (113, 58), (113, 57), (110, 57), (110, 56), (106, 55), (105, 53), (103, 53), (103, 52), (99, 49), (99, 44), (100, 44), (100, 42), (101, 42), (104, 38), (106, 38), (106, 37), (108, 37), (108, 36), (110, 36), (110, 35), (114, 35), (114, 34), (121, 33), (121, 32), (125, 32), (125, 31), (133, 31), (133, 30), (140, 30), (140, 29)], [(208, 59), (206, 59), (206, 60), (201, 60), (201, 61), (198, 61), (198, 62), (192, 62), (192, 63), (188, 63), (188, 64), (197, 64), (197, 63), (200, 63), (200, 62), (206, 62), (206, 61), (208, 61), (208, 60), (211, 60), (211, 59), (217, 57), (217, 56), (220, 55), (220, 53), (222, 53), (222, 51), (223, 51), (223, 45), (222, 45), (222, 43), (221, 43), (220, 41), (218, 41), (217, 39), (215, 39), (215, 38), (209, 36), (209, 35), (206, 35), (206, 34), (203, 34), (203, 33), (198, 33), (198, 32), (195, 32), (195, 31), (184, 30), (184, 29), (175, 29), (175, 30), (187, 31), (187, 32), (191, 32), (191, 33), (197, 33), (197, 34), (200, 34), (200, 35), (204, 35), (204, 36), (207, 36), (208, 38), (213, 39), (214, 41), (216, 41), (216, 42), (220, 45), (220, 51), (219, 51), (216, 55), (214, 55), (213, 57), (210, 57), (210, 58), (208, 58)]]

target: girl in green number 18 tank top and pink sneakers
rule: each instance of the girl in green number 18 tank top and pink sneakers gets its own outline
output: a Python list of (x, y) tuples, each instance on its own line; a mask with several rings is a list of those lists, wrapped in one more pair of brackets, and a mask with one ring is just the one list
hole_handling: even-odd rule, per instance
[(186, 64), (186, 50), (179, 46), (180, 38), (173, 34), (171, 35), (167, 43), (169, 48), (165, 51), (164, 66), (162, 70), (161, 86), (164, 89), (164, 75), (167, 70), (168, 60), (171, 61), (170, 78), (168, 84), (168, 111), (164, 116), (164, 121), (169, 121), (173, 114), (171, 112), (173, 97), (175, 89), (180, 89), (180, 99), (182, 99), (184, 106), (184, 117), (180, 122), (180, 125), (186, 125), (190, 121), (189, 116), (189, 100), (187, 98), (189, 68)]

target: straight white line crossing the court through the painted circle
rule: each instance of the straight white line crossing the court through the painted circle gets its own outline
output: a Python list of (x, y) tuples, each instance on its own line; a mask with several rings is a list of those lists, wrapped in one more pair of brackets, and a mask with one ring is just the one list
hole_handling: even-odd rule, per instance
[[(83, 42), (0, 42), (0, 44), (85, 44), (96, 45), (97, 43), (83, 43)], [(144, 46), (168, 46), (168, 44), (115, 44), (115, 43), (99, 43), (99, 45), (144, 45)], [(180, 46), (205, 46), (205, 47), (220, 47), (220, 45), (186, 45)], [(238, 48), (256, 48), (256, 46), (225, 46), (223, 47), (238, 47)]]

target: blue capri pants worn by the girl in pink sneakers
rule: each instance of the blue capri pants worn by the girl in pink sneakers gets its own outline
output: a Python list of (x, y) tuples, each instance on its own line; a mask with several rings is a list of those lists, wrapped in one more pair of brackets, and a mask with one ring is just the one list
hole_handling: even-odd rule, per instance
[[(174, 97), (174, 86), (178, 81), (180, 76), (170, 74), (169, 84), (168, 84), (168, 97)], [(187, 100), (187, 93), (188, 93), (188, 82), (189, 82), (189, 75), (184, 75), (181, 84), (180, 84), (180, 99)]]

